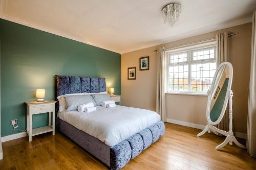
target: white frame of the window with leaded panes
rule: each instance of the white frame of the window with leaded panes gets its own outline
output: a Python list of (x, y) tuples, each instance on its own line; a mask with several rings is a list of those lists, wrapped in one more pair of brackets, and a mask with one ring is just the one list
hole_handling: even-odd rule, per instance
[[(214, 58), (210, 59), (202, 59), (202, 60), (196, 60), (193, 61), (193, 52), (195, 51), (201, 51), (202, 49), (207, 49), (207, 48), (212, 48), (215, 47), (215, 54)], [(170, 54), (179, 54), (179, 53), (185, 53), (187, 52), (187, 61), (184, 62), (178, 62), (178, 63), (170, 63), (169, 55)], [(197, 44), (197, 45), (189, 45), (185, 47), (180, 47), (180, 48), (175, 48), (171, 50), (165, 50), (165, 58), (166, 58), (166, 83), (165, 83), (165, 93), (170, 93), (170, 94), (190, 94), (190, 95), (207, 95), (207, 92), (204, 91), (191, 91), (190, 86), (191, 86), (191, 65), (192, 64), (197, 64), (197, 63), (207, 63), (207, 62), (216, 62), (217, 58), (217, 43), (216, 41), (214, 42), (208, 42), (208, 43), (203, 43), (203, 44)], [(169, 72), (169, 66), (175, 66), (175, 65), (188, 65), (188, 91), (169, 91), (168, 89), (168, 72)], [(217, 69), (217, 68), (216, 68)]]

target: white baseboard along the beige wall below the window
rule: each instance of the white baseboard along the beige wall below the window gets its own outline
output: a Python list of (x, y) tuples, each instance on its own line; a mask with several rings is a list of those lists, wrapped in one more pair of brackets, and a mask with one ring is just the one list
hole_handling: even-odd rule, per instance
[[(172, 124), (177, 124), (177, 125), (182, 125), (182, 126), (187, 126), (190, 128), (201, 129), (201, 130), (203, 130), (206, 126), (206, 125), (199, 125), (199, 124), (183, 122), (180, 120), (175, 120), (175, 119), (170, 119), (170, 118), (166, 118), (166, 122), (172, 123)], [(240, 133), (240, 132), (234, 132), (234, 136), (242, 138), (242, 139), (246, 139), (246, 137), (247, 137), (246, 133)]]

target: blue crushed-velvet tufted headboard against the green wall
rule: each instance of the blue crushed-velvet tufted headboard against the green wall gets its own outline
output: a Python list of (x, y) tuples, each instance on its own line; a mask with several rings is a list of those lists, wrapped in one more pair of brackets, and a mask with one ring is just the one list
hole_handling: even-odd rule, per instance
[(56, 76), (56, 84), (56, 97), (63, 94), (106, 91), (105, 78)]

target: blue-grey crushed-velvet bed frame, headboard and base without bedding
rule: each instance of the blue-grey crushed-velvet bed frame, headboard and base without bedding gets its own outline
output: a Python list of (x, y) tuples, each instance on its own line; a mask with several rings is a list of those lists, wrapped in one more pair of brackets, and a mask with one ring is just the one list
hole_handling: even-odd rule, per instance
[[(63, 94), (81, 92), (106, 91), (105, 78), (88, 78), (73, 76), (56, 76), (56, 97)], [(58, 102), (56, 104), (58, 111)], [(134, 134), (133, 136), (110, 147), (99, 139), (76, 129), (74, 126), (56, 117), (56, 129), (76, 142), (80, 147), (98, 158), (110, 169), (120, 169), (131, 159), (138, 156), (143, 150), (150, 147), (160, 136), (163, 136), (165, 127), (163, 122)]]

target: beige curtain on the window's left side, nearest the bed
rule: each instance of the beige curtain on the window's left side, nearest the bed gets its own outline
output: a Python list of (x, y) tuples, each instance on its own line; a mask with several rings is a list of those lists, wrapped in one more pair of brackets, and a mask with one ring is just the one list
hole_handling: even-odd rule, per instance
[(156, 112), (161, 116), (161, 120), (166, 122), (165, 108), (165, 84), (166, 84), (166, 59), (164, 57), (164, 47), (157, 50), (157, 104)]

